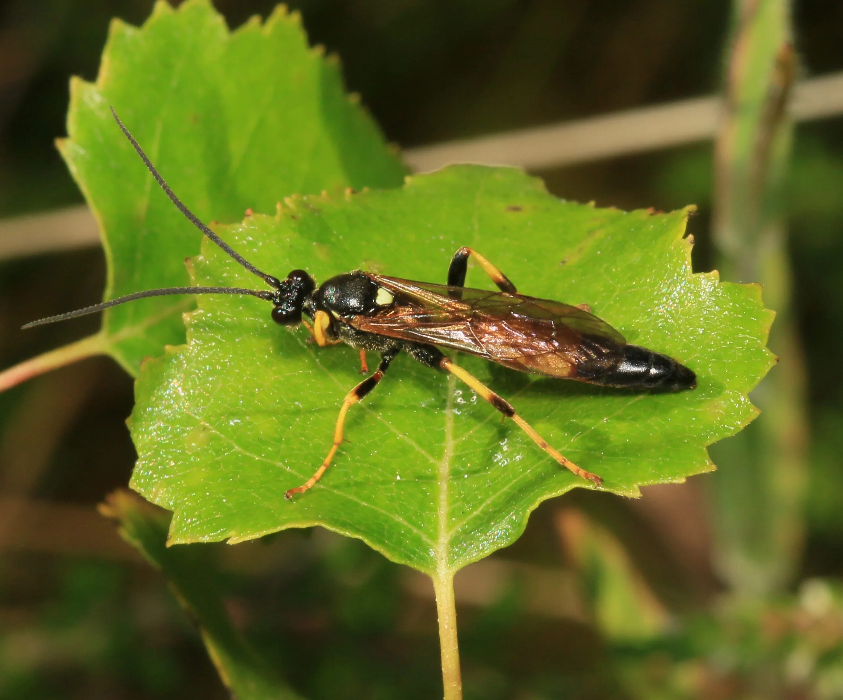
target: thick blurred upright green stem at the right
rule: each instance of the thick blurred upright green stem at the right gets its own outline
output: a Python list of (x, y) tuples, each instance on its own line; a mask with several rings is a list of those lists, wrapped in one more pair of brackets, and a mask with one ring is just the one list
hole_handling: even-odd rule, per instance
[(807, 473), (803, 357), (791, 311), (782, 203), (790, 159), (787, 118), (796, 58), (787, 0), (738, 0), (727, 99), (715, 147), (714, 240), (723, 277), (760, 282), (777, 313), (770, 347), (780, 358), (753, 393), (762, 409), (712, 457), (717, 564), (742, 595), (787, 585), (801, 551)]

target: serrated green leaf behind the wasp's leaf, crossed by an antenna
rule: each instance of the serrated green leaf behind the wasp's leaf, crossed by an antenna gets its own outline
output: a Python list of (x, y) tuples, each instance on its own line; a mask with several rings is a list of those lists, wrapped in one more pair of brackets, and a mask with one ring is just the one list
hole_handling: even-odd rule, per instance
[[(96, 83), (74, 78), (59, 147), (99, 221), (105, 298), (189, 284), (184, 259), (201, 234), (148, 174), (117, 114), (164, 179), (203, 221), (275, 211), (292, 192), (397, 186), (400, 161), (349, 99), (338, 61), (311, 49), (283, 6), (229, 33), (207, 0), (158, 2), (142, 28), (111, 25)], [(191, 298), (106, 311), (105, 351), (137, 373), (146, 355), (184, 341)]]

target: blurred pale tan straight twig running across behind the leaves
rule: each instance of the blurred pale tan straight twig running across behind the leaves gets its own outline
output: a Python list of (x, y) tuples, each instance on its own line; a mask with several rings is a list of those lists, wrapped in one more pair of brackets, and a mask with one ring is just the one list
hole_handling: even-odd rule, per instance
[[(628, 110), (505, 134), (434, 144), (406, 151), (416, 172), (448, 163), (494, 163), (528, 170), (561, 168), (710, 139), (722, 99), (704, 97)], [(843, 114), (843, 72), (806, 80), (794, 90), (790, 114), (808, 121)], [(0, 222), (0, 260), (86, 248), (99, 243), (86, 206)]]

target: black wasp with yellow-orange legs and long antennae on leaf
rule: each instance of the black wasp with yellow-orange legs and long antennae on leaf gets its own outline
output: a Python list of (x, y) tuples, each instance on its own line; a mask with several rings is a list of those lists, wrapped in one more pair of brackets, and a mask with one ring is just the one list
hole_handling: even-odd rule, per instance
[[(352, 388), (342, 402), (334, 444), (328, 456), (308, 481), (287, 490), (287, 499), (307, 491), (322, 478), (342, 443), (348, 409), (378, 386), (401, 350), (424, 366), (453, 373), (505, 418), (513, 419), (556, 462), (598, 486), (602, 484), (602, 478), (563, 457), (510, 403), (455, 365), (439, 348), (477, 355), (513, 370), (605, 387), (675, 392), (696, 386), (693, 371), (667, 355), (626, 343), (617, 330), (590, 313), (587, 306), (570, 306), (518, 294), (515, 285), (501, 270), (471, 248), (459, 248), (454, 254), (446, 285), (402, 280), (362, 270), (336, 275), (321, 285), (304, 270), (293, 270), (283, 280), (267, 275), (239, 255), (181, 202), (113, 109), (111, 113), (149, 172), (181, 213), (246, 270), (265, 281), (271, 290), (192, 286), (138, 291), (110, 302), (42, 318), (27, 323), (24, 329), (96, 313), (145, 297), (241, 294), (271, 302), (271, 315), (276, 323), (302, 323), (320, 347), (345, 343), (357, 348), (364, 372), (368, 372), (366, 351), (378, 352), (378, 368)], [(474, 257), (500, 291), (464, 286), (470, 257)], [(309, 322), (303, 317), (309, 318)]]

